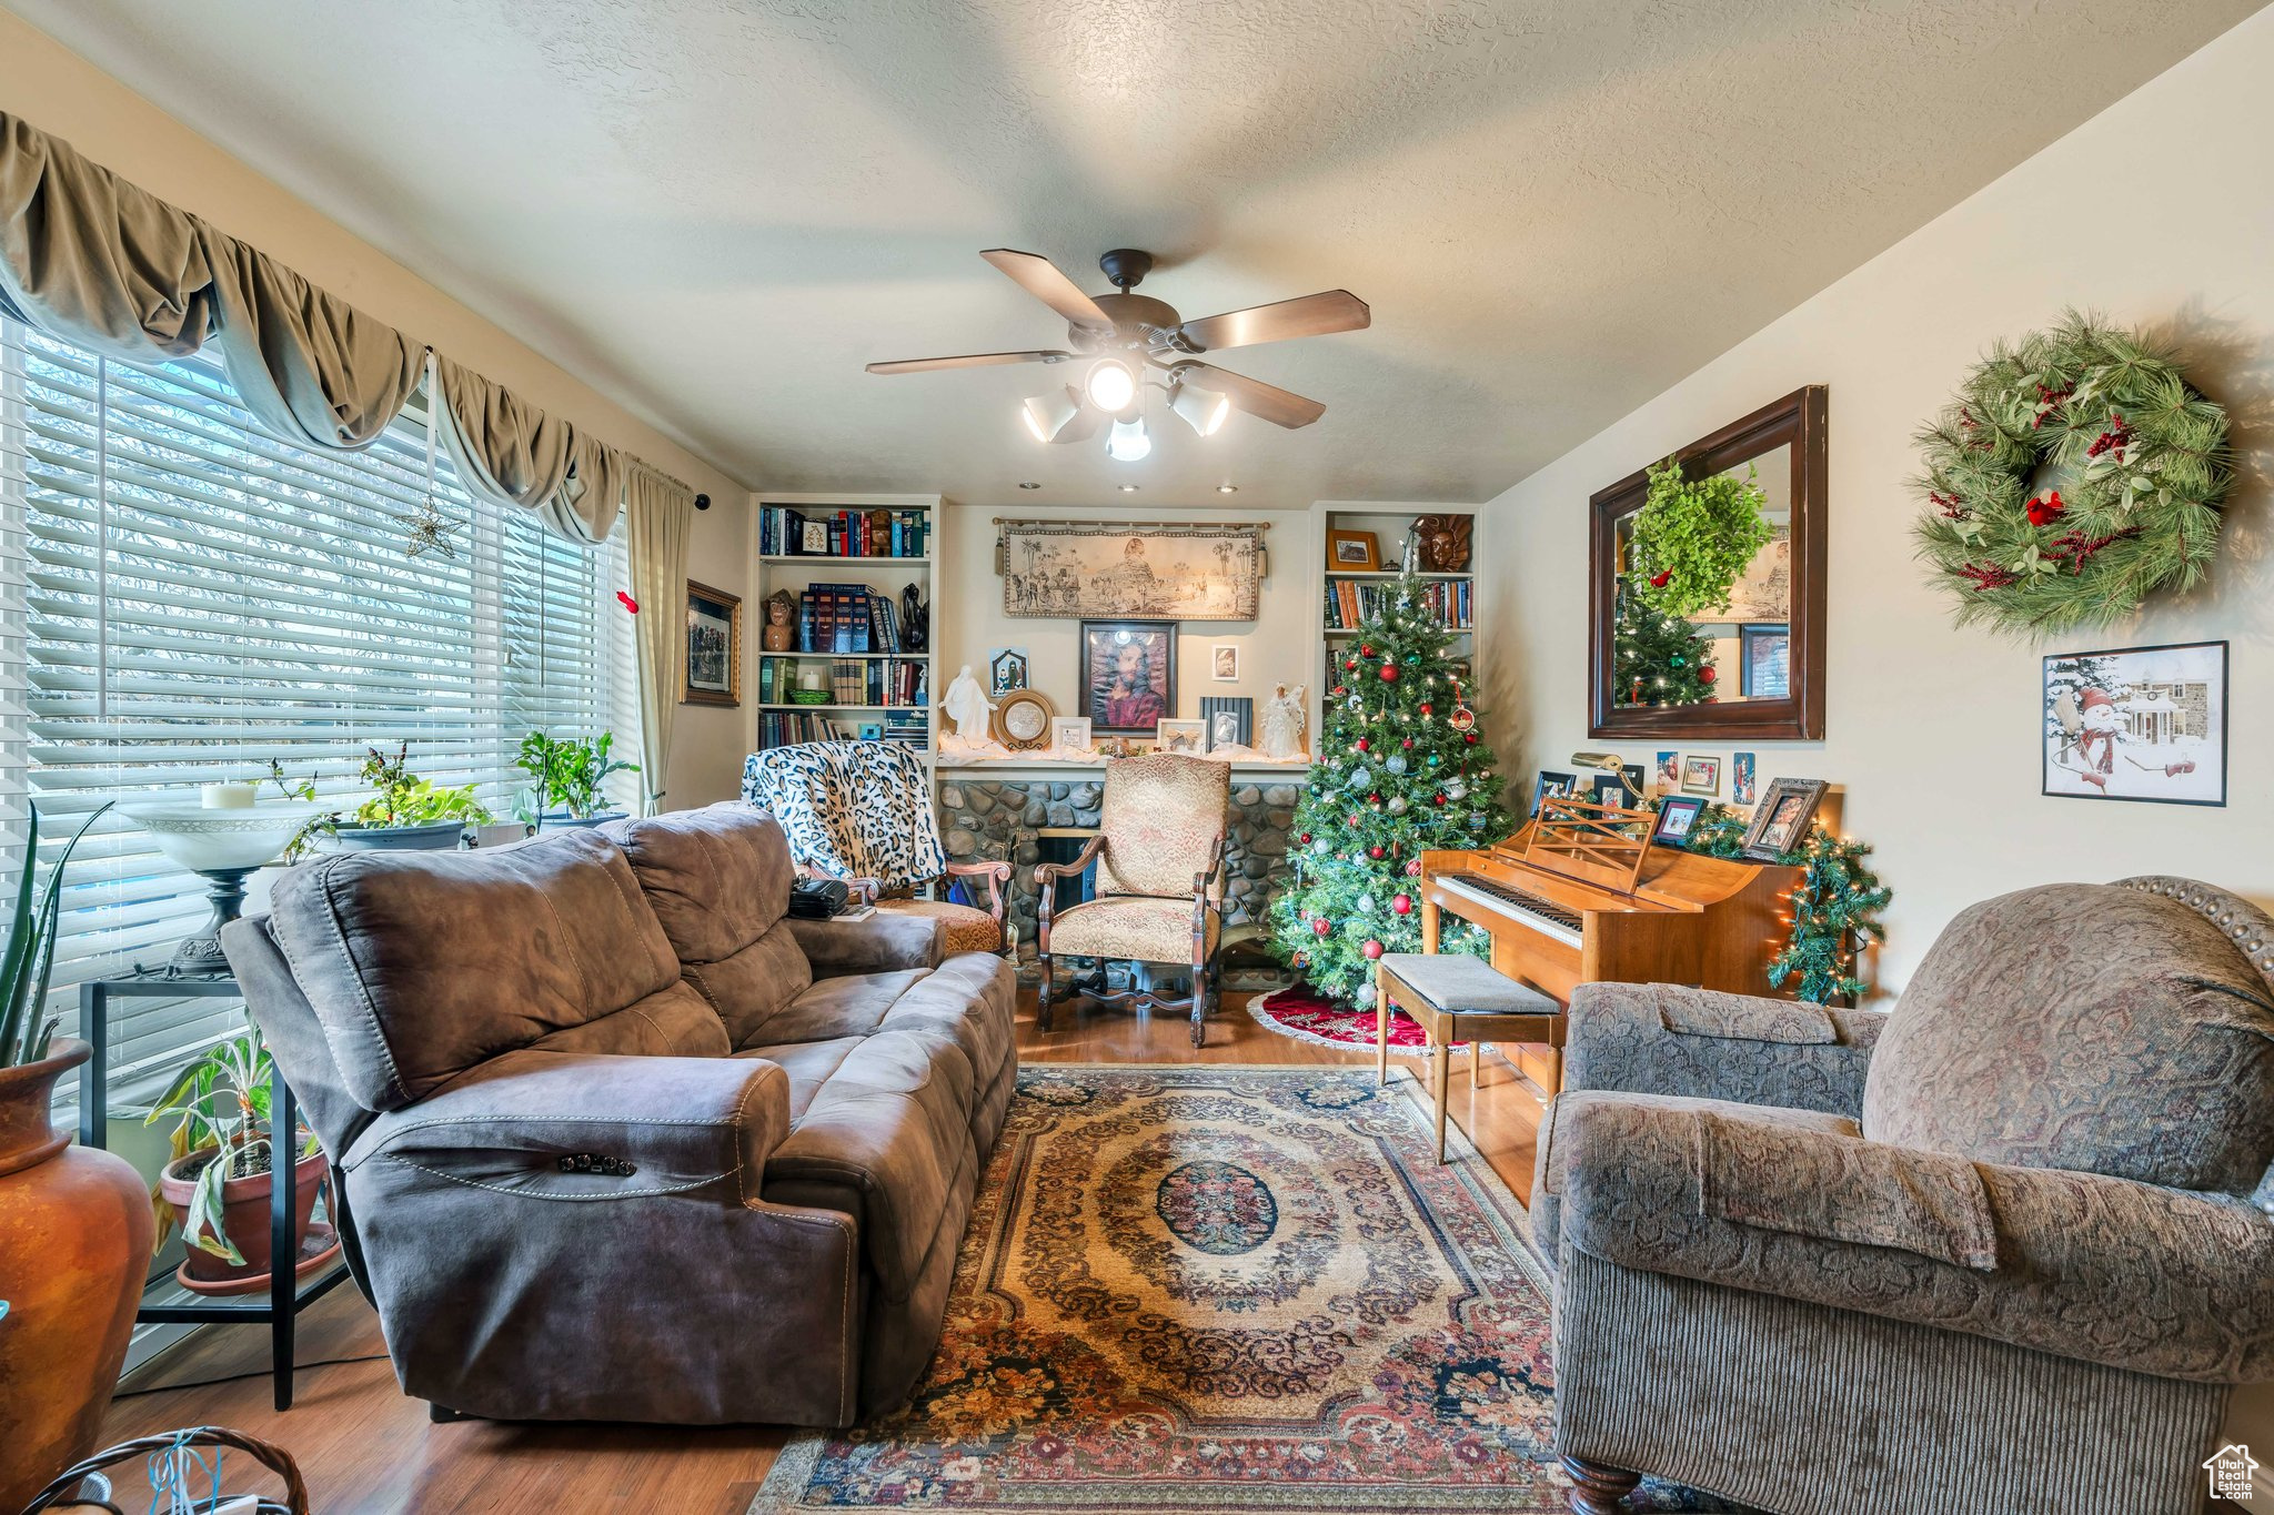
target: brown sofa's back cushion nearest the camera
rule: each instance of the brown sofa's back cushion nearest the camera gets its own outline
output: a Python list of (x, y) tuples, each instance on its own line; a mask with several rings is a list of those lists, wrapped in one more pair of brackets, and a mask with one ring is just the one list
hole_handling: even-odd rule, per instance
[(696, 1033), (694, 993), (630, 863), (594, 831), (291, 868), (271, 895), (268, 931), (341, 1081), (373, 1111), (619, 1011), (637, 1011), (623, 1036), (662, 1027), (678, 1052), (723, 1052)]

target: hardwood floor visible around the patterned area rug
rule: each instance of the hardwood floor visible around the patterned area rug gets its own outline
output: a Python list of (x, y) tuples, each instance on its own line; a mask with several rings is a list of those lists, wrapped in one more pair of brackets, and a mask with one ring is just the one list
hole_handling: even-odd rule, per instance
[[(1226, 993), (1207, 1047), (1187, 1045), (1189, 1022), (1062, 1004), (1048, 1038), (1035, 1033), (1032, 990), (1021, 995), (1019, 1056), (1028, 1063), (1371, 1063), (1298, 1043), (1255, 1024), (1244, 993)], [(1419, 1061), (1403, 1058), (1419, 1072)], [(1455, 1065), (1453, 1120), (1496, 1172), (1528, 1197), (1537, 1090), (1487, 1056), (1480, 1088)], [(300, 1315), (300, 1361), (382, 1354), (377, 1317), (355, 1288), (339, 1288)], [(268, 1397), (264, 1326), (216, 1326), (159, 1358), (114, 1401), (105, 1442), (175, 1426), (223, 1424), (291, 1451), (323, 1515), (396, 1510), (669, 1510), (739, 1515), (787, 1431), (775, 1426), (539, 1426), (428, 1422), (405, 1399), (384, 1358), (302, 1367), (296, 1404), (277, 1415)], [(239, 1372), (252, 1379), (198, 1383)], [(266, 1488), (266, 1485), (264, 1485)]]

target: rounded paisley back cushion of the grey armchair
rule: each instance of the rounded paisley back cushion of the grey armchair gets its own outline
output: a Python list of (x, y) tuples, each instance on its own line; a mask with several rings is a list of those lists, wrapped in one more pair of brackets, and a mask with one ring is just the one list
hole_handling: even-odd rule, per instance
[(2238, 911), (2256, 915), (2199, 884), (1962, 911), (1887, 1020), (1862, 1133), (2249, 1195), (2274, 1158), (2274, 990), (2226, 929)]

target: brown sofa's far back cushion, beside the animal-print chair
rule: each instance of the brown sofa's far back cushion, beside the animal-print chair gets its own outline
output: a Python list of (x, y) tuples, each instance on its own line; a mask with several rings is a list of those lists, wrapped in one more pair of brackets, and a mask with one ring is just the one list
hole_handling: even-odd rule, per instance
[(744, 1043), (812, 984), (789, 922), (789, 840), (748, 804), (671, 811), (603, 827), (632, 861), (687, 981)]

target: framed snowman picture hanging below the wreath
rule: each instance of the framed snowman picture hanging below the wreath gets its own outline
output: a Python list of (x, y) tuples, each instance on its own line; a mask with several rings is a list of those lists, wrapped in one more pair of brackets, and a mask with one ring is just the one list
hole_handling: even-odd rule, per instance
[(2049, 654), (2042, 772), (2063, 800), (2226, 804), (2226, 643)]

